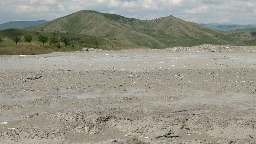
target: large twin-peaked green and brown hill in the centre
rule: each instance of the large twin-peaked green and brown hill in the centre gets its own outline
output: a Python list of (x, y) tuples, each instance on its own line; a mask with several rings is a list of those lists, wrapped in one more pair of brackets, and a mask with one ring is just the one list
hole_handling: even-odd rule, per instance
[(206, 43), (230, 44), (254, 39), (250, 32), (220, 32), (174, 16), (139, 20), (94, 10), (81, 10), (50, 22), (26, 27), (24, 30), (102, 36), (148, 48), (195, 46)]

